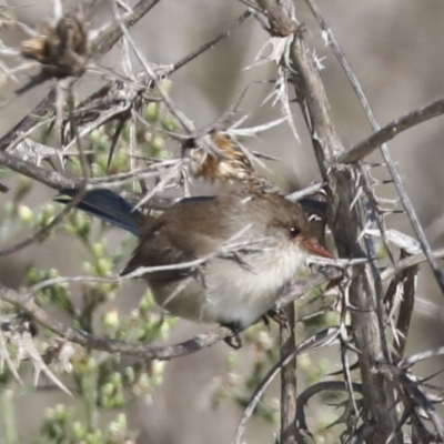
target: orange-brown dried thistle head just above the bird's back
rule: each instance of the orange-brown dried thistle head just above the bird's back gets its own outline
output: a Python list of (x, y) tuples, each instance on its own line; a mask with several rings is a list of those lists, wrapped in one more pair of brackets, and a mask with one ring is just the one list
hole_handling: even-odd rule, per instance
[(188, 139), (182, 144), (182, 154), (191, 160), (190, 172), (194, 178), (244, 182), (255, 175), (245, 151), (223, 131), (212, 130), (201, 138)]

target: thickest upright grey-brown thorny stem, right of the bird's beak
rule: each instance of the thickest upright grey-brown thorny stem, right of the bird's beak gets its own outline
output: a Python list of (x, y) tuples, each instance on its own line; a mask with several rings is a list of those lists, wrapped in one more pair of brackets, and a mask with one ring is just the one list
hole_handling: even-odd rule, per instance
[[(334, 130), (330, 117), (330, 105), (315, 61), (305, 48), (303, 36), (299, 33), (290, 53), (291, 69), (297, 73), (295, 93), (303, 115), (311, 132), (314, 152), (321, 174), (331, 188), (332, 212), (329, 213), (329, 225), (333, 232), (340, 255), (345, 258), (362, 258), (364, 255), (360, 234), (366, 225), (366, 215), (362, 201), (352, 205), (356, 193), (359, 171), (337, 169), (334, 159), (344, 148)], [(344, 230), (344, 226), (347, 229)], [(377, 275), (376, 275), (377, 276)], [(350, 286), (350, 302), (355, 307), (352, 311), (355, 346), (359, 355), (362, 381), (364, 384), (364, 423), (373, 418), (375, 428), (369, 442), (376, 443), (386, 440), (396, 427), (394, 392), (390, 381), (372, 372), (375, 362), (390, 360), (387, 341), (384, 331), (384, 320), (380, 287), (369, 268), (354, 270)], [(396, 436), (395, 443), (401, 443)]]

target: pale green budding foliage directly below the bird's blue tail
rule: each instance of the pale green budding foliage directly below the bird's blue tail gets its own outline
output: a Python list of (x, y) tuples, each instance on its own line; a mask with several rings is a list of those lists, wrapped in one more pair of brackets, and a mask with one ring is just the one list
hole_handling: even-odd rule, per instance
[[(53, 215), (51, 206), (47, 205), (36, 216), (36, 221), (47, 224)], [(85, 249), (89, 260), (84, 261), (83, 271), (88, 276), (107, 278), (121, 266), (122, 252), (110, 250), (103, 233), (93, 230), (90, 218), (84, 213), (73, 211), (68, 216), (63, 231)], [(32, 286), (59, 276), (56, 269), (30, 264), (26, 272), (26, 284)], [(44, 309), (57, 307), (69, 316), (72, 326), (92, 334), (144, 343), (168, 336), (175, 320), (163, 320), (155, 311), (149, 291), (129, 313), (122, 312), (114, 304), (120, 291), (121, 284), (118, 282), (87, 281), (81, 284), (79, 297), (71, 285), (61, 282), (39, 290), (34, 294), (34, 301)], [(50, 333), (46, 334), (46, 341), (40, 342), (42, 353), (50, 349), (53, 340)], [(57, 359), (53, 363), (56, 361)], [(127, 427), (123, 411), (135, 398), (151, 401), (153, 390), (163, 381), (163, 363), (144, 360), (129, 362), (121, 356), (75, 347), (69, 364), (69, 386), (82, 407), (59, 404), (49, 408), (40, 436), (34, 442), (131, 442), (134, 434)], [(114, 421), (99, 427), (102, 413), (107, 411), (121, 413), (118, 413)], [(85, 417), (80, 418), (80, 412)]]

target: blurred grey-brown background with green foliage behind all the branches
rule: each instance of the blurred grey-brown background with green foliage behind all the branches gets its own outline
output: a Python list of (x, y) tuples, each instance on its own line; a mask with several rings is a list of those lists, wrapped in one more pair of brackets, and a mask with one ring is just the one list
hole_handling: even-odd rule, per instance
[[(102, 3), (92, 27), (111, 18), (107, 2)], [(14, 0), (9, 4), (20, 7), (11, 13), (31, 28), (41, 27), (52, 16), (49, 0), (34, 4)], [(296, 0), (295, 6), (297, 16), (306, 26), (309, 44), (316, 48), (319, 58), (323, 58), (322, 78), (331, 100), (333, 120), (344, 144), (351, 147), (370, 134), (370, 127), (345, 75), (324, 47), (305, 3)], [(442, 1), (320, 0), (319, 6), (362, 82), (381, 124), (442, 97)], [(150, 62), (172, 63), (225, 29), (243, 10), (244, 7), (236, 1), (163, 0), (134, 27), (132, 36)], [(4, 26), (1, 30), (4, 44), (17, 47), (24, 38), (16, 27)], [(250, 114), (248, 123), (254, 125), (278, 118), (278, 108), (261, 105), (270, 91), (266, 80), (275, 78), (274, 67), (263, 64), (244, 70), (253, 63), (266, 39), (266, 33), (253, 20), (246, 21), (229, 39), (175, 73), (171, 79), (171, 94), (178, 107), (201, 128), (223, 114), (249, 85), (241, 105), (241, 111)], [(107, 54), (104, 63), (119, 70), (121, 47), (117, 46)], [(6, 78), (0, 78), (0, 92), (8, 99), (8, 93), (18, 85)], [(94, 79), (82, 79), (79, 94), (90, 93), (98, 84)], [(0, 109), (0, 134), (26, 115), (49, 88), (48, 84), (36, 88)], [(168, 119), (162, 110), (153, 107), (145, 112), (148, 119)], [(294, 107), (294, 113), (301, 144), (295, 145), (285, 124), (248, 142), (253, 150), (282, 159), (269, 164), (268, 174), (283, 192), (320, 180), (297, 107)], [(108, 160), (105, 137), (105, 133), (98, 132), (91, 138), (91, 147), (100, 154), (97, 159), (99, 172)], [(443, 137), (442, 120), (435, 119), (390, 143), (433, 248), (443, 246)], [(160, 134), (149, 133), (140, 149), (162, 157), (167, 149), (176, 147), (165, 147)], [(371, 160), (380, 161), (380, 158), (374, 154)], [(114, 158), (115, 171), (123, 169), (124, 162), (124, 150), (120, 150)], [(75, 164), (70, 168), (75, 169)], [(0, 179), (12, 190), (8, 194), (0, 193), (0, 246), (6, 246), (24, 238), (36, 226), (44, 225), (53, 216), (56, 204), (51, 203), (53, 191), (41, 184), (31, 184), (28, 179), (6, 170), (0, 170)], [(202, 191), (202, 188), (198, 190)], [(395, 196), (390, 185), (379, 189), (379, 194)], [(412, 232), (402, 214), (391, 216), (387, 224)], [(67, 223), (60, 225), (44, 244), (33, 244), (17, 254), (0, 258), (0, 281), (19, 289), (58, 274), (107, 275), (111, 270), (121, 269), (132, 246), (134, 239), (119, 230), (110, 230), (97, 222), (91, 224), (84, 214), (71, 213)], [(68, 291), (60, 285), (39, 292), (37, 297), (57, 319), (65, 322), (73, 319), (78, 327), (109, 337), (164, 344), (183, 341), (206, 329), (185, 321), (163, 319), (153, 306), (144, 284), (137, 281), (127, 282), (123, 289), (107, 283), (71, 285)], [(417, 310), (407, 354), (441, 345), (441, 334), (444, 333), (441, 297), (424, 266), (420, 274)], [(303, 310), (306, 309), (300, 309), (301, 315)], [(317, 321), (325, 325), (334, 319), (324, 316)], [(315, 327), (313, 322), (301, 324), (299, 339), (303, 339), (312, 327)], [(0, 442), (228, 443), (249, 395), (276, 361), (274, 329), (253, 326), (244, 334), (244, 347), (238, 352), (218, 344), (167, 363), (113, 356), (60, 343), (59, 346), (67, 349), (67, 359), (59, 363), (59, 375), (74, 396), (56, 389), (44, 376), (40, 377), (36, 389), (30, 364), (20, 366), (23, 386), (4, 371), (0, 380)], [(50, 345), (43, 343), (41, 346), (46, 350)], [(441, 365), (438, 363), (434, 369)], [(300, 357), (299, 369), (305, 383), (340, 370), (337, 349)], [(423, 371), (427, 370), (424, 366)], [(278, 427), (278, 396), (275, 384), (248, 428), (246, 442), (272, 442)], [(324, 427), (337, 415), (325, 405), (325, 398), (320, 401), (310, 404), (311, 427), (319, 431), (316, 442), (335, 442), (337, 430)]]

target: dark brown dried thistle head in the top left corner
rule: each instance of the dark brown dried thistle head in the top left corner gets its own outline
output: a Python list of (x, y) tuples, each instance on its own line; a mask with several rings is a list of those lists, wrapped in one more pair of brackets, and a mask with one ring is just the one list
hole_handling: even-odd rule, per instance
[(81, 75), (89, 54), (88, 29), (78, 13), (67, 13), (41, 36), (24, 40), (21, 54), (42, 65), (47, 78)]

